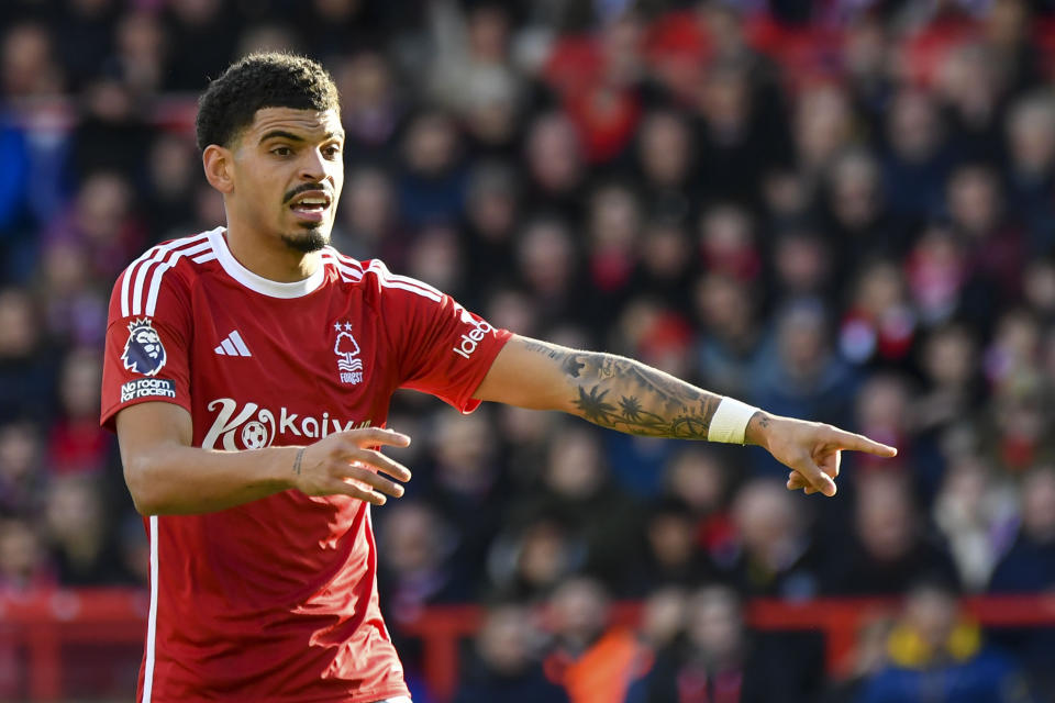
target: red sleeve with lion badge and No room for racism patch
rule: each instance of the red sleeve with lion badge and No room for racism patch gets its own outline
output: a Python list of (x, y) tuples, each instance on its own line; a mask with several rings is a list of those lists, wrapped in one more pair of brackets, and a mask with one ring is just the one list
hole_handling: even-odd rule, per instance
[[(116, 414), (147, 401), (190, 412), (190, 304), (178, 276), (158, 275), (156, 288), (130, 266), (114, 283), (107, 320), (100, 424), (115, 429)], [(157, 268), (157, 267), (155, 267)], [(125, 282), (127, 279), (127, 282)], [(153, 281), (149, 281), (153, 282)]]

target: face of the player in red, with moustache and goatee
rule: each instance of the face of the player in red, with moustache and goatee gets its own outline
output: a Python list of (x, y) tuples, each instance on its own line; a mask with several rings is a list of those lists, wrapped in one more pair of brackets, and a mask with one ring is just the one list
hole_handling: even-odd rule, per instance
[(298, 252), (330, 243), (344, 185), (336, 110), (263, 108), (232, 145), (232, 215)]

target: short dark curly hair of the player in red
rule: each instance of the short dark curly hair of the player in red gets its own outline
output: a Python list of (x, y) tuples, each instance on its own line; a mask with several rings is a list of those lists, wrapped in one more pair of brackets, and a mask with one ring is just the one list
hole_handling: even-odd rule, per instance
[(198, 148), (230, 146), (262, 108), (341, 110), (333, 78), (303, 56), (251, 54), (232, 64), (198, 101)]

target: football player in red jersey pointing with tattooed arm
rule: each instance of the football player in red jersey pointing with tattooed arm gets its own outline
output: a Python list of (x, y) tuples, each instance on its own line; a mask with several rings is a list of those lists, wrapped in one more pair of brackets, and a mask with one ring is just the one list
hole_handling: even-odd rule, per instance
[(841, 449), (895, 454), (495, 328), (334, 250), (344, 132), (336, 89), (308, 59), (236, 63), (202, 96), (197, 127), (226, 226), (133, 261), (107, 331), (102, 423), (151, 544), (144, 703), (407, 700), (369, 512), (410, 480), (378, 450), (410, 442), (384, 428), (398, 388), (466, 413), (488, 400), (759, 444), (808, 493), (835, 492)]

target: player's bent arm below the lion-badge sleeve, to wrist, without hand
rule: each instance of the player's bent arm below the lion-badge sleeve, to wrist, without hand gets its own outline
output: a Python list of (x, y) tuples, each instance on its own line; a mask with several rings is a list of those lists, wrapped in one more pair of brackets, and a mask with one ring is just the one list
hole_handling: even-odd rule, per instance
[(144, 515), (207, 513), (293, 487), (298, 447), (192, 447), (190, 413), (179, 405), (132, 405), (118, 413), (116, 425), (124, 481)]

